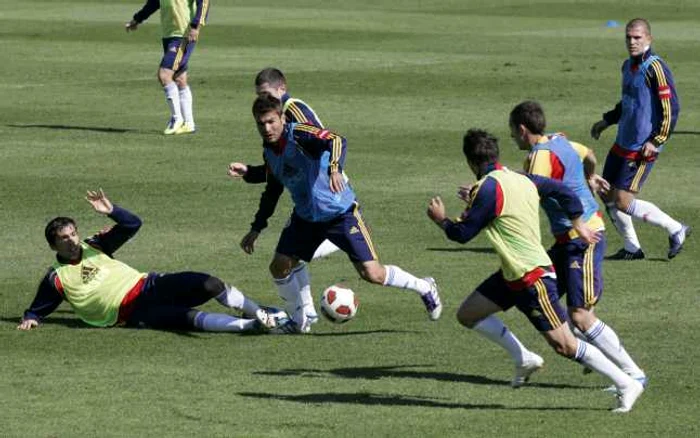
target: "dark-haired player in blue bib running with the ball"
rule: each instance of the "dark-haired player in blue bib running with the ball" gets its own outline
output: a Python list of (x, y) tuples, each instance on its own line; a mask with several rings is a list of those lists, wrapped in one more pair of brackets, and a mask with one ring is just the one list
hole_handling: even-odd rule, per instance
[[(304, 312), (307, 303), (300, 302), (311, 294), (301, 293), (295, 276), (300, 260), (310, 261), (326, 239), (348, 255), (362, 279), (415, 291), (430, 318), (438, 319), (442, 304), (432, 278), (416, 278), (398, 266), (379, 263), (355, 192), (343, 176), (345, 138), (317, 126), (286, 123), (282, 102), (270, 94), (255, 100), (253, 116), (263, 139), (265, 164), (234, 162), (228, 173), (244, 181), (257, 181), (264, 176), (268, 186), (274, 188), (260, 200), (251, 232), (241, 242), (246, 253), (253, 252), (255, 240), (266, 227), (282, 191), (287, 188), (292, 196), (292, 217), (282, 231), (270, 264), (279, 295), (292, 314), (290, 331), (305, 333), (311, 328)], [(310, 284), (306, 282), (302, 287), (310, 288)]]

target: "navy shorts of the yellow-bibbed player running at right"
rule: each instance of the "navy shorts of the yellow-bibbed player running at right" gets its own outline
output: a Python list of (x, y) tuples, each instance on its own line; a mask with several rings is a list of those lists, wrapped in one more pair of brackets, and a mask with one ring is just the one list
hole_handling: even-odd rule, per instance
[(498, 271), (476, 290), (503, 311), (517, 307), (540, 332), (554, 330), (567, 321), (566, 309), (559, 304), (555, 278), (540, 277), (531, 286), (516, 291), (508, 287), (503, 271)]

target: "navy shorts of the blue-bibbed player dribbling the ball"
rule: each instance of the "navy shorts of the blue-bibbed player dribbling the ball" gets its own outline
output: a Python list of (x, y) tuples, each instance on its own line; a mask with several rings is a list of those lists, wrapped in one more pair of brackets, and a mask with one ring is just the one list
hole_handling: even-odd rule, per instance
[(308, 262), (326, 239), (343, 250), (353, 263), (377, 260), (369, 227), (357, 203), (327, 222), (308, 222), (292, 213), (276, 251)]

